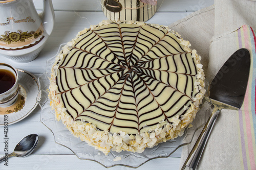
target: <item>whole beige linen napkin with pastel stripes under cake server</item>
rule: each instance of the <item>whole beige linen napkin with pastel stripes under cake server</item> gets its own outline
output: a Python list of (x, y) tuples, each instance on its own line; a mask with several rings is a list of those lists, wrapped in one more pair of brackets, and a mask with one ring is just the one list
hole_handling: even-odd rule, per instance
[[(186, 35), (184, 39), (194, 38), (193, 41), (199, 41), (193, 48), (206, 49), (198, 52), (203, 62), (208, 61), (208, 64), (203, 64), (206, 64), (204, 69), (209, 81), (239, 48), (247, 48), (251, 55), (250, 76), (243, 106), (239, 111), (221, 111), (197, 169), (256, 169), (255, 13), (256, 1), (215, 0), (215, 6), (197, 11), (170, 26), (182, 36)], [(198, 35), (202, 33), (203, 38), (200, 38)], [(201, 130), (195, 134), (191, 144), (183, 147), (180, 167)]]

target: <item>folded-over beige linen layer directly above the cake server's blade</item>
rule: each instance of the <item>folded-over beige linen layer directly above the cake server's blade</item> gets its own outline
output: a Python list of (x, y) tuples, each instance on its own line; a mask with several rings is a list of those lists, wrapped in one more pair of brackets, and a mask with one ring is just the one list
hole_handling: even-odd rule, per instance
[(256, 1), (215, 0), (215, 35), (210, 44), (207, 72), (209, 81), (214, 78), (227, 58), (236, 51), (237, 35), (234, 31), (243, 25), (256, 28), (255, 14)]

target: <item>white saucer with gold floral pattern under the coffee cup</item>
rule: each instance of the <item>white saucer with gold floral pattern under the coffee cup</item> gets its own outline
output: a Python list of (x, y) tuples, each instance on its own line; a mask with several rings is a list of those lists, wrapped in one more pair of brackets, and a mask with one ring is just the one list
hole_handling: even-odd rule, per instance
[[(15, 124), (27, 117), (37, 106), (36, 97), (39, 92), (37, 78), (22, 69), (18, 71), (19, 96), (16, 103), (8, 108), (0, 107), (0, 126), (4, 126), (7, 115), (8, 125)], [(5, 117), (6, 118), (6, 117)]]

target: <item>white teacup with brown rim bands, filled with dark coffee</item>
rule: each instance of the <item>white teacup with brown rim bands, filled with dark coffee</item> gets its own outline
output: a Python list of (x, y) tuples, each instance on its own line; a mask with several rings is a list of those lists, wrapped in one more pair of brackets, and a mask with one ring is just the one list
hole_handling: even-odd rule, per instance
[(6, 63), (0, 63), (0, 107), (9, 107), (17, 100), (18, 72)]

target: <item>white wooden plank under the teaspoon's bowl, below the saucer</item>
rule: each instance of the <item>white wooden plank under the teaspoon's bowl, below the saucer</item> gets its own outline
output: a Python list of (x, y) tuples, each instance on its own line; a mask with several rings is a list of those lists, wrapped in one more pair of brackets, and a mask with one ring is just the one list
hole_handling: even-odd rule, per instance
[[(73, 154), (68, 148), (55, 143), (52, 132), (40, 122), (40, 113), (31, 113), (22, 121), (8, 126), (9, 153), (20, 139), (33, 133), (39, 136), (35, 154)], [(4, 127), (0, 127), (0, 138), (4, 139)], [(0, 142), (0, 154), (4, 154), (3, 148), (4, 143)]]

